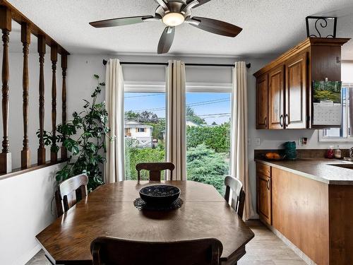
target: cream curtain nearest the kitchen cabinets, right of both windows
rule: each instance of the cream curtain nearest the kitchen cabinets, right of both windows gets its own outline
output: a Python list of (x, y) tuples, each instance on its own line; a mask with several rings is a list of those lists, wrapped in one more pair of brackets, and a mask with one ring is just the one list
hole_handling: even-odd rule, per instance
[(231, 175), (243, 184), (245, 197), (244, 218), (253, 215), (248, 172), (248, 99), (246, 63), (235, 63), (232, 91)]

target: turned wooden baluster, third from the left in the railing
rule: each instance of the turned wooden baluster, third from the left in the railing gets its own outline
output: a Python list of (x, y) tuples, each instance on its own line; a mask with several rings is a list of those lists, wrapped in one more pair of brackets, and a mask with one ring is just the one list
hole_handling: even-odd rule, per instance
[(44, 147), (44, 55), (45, 55), (45, 38), (38, 36), (38, 54), (40, 55), (40, 146), (38, 148), (38, 165), (45, 163), (45, 147)]

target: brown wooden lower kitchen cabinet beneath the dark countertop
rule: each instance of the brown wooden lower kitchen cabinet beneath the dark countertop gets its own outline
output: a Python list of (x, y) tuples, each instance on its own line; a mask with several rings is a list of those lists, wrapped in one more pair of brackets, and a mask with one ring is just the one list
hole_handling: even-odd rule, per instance
[(353, 185), (256, 163), (257, 210), (316, 264), (353, 264)]

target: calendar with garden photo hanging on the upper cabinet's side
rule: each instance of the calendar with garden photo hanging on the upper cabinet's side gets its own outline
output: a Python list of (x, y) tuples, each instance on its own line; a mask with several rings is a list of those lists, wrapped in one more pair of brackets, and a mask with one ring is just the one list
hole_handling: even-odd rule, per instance
[(313, 81), (313, 125), (341, 125), (341, 88), (341, 81)]

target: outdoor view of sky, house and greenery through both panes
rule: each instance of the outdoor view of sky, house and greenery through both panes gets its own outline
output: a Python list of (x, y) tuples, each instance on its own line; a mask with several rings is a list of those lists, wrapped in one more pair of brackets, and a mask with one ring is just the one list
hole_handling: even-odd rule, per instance
[[(186, 94), (187, 178), (221, 194), (229, 173), (230, 93)], [(126, 179), (136, 164), (165, 161), (165, 93), (125, 93)], [(148, 179), (148, 172), (141, 172)]]

